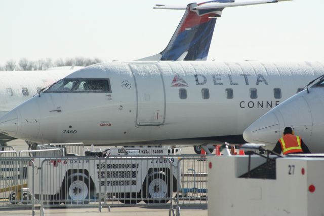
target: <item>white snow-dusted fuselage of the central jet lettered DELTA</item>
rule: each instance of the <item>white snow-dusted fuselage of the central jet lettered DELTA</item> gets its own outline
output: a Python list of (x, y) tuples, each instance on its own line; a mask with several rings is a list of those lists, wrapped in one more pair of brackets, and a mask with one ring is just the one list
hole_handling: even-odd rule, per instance
[(0, 131), (95, 145), (239, 135), (321, 74), (319, 62), (97, 64), (65, 79), (109, 79), (109, 91), (41, 93), (0, 119)]

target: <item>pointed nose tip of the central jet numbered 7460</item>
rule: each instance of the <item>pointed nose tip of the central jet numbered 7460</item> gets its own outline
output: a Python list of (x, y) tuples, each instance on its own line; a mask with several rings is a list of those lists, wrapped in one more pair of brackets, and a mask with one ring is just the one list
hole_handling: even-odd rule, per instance
[(9, 136), (15, 136), (18, 130), (18, 117), (16, 111), (10, 111), (0, 118), (0, 132)]

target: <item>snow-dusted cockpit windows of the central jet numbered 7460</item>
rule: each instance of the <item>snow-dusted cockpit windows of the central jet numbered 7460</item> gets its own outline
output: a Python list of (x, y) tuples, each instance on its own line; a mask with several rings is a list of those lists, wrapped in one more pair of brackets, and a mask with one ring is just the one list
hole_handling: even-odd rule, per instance
[(109, 79), (63, 79), (45, 92), (111, 92)]

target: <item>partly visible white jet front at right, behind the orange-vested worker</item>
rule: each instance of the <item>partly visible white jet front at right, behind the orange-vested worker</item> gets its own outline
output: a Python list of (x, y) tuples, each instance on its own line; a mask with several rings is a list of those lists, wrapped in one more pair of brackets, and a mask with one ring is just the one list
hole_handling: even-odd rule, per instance
[(265, 143), (274, 148), (285, 127), (290, 126), (312, 153), (324, 153), (324, 75), (260, 117), (243, 133), (248, 142)]

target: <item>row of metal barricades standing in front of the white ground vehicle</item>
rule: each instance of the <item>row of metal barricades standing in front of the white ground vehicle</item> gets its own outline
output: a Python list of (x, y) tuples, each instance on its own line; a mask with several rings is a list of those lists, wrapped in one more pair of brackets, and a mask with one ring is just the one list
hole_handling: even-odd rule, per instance
[[(61, 153), (60, 150), (37, 150), (22, 151), (21, 155), (42, 155), (43, 151)], [(0, 158), (2, 206), (29, 205), (31, 196), (32, 208), (35, 201), (41, 204), (41, 214), (45, 207), (63, 204), (87, 204), (100, 211), (102, 207), (121, 205), (170, 205), (171, 214), (175, 203), (179, 215), (183, 204), (208, 202), (207, 160), (197, 155), (6, 160)]]

